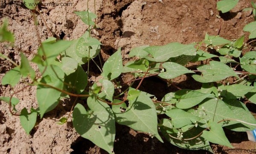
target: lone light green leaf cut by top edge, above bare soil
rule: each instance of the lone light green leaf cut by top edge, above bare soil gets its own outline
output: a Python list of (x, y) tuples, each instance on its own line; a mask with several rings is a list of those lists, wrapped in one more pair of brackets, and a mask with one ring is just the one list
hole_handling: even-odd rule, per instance
[(217, 8), (222, 13), (226, 13), (234, 8), (238, 2), (239, 0), (221, 0), (218, 1)]

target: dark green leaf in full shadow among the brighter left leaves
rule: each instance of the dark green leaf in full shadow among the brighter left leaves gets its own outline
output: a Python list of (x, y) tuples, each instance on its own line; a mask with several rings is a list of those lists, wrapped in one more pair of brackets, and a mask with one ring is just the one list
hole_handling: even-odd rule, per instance
[(67, 86), (68, 91), (80, 94), (87, 86), (87, 74), (80, 65), (77, 65), (76, 71), (65, 77), (65, 82), (71, 85)]

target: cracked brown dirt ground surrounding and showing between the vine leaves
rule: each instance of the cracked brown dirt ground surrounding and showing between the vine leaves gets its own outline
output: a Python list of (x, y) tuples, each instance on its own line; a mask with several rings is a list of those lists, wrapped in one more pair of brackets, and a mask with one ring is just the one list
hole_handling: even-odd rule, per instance
[[(242, 29), (244, 25), (253, 21), (253, 16), (250, 11), (242, 12), (241, 10), (250, 7), (250, 1), (240, 0), (231, 12), (221, 14), (220, 36), (226, 39), (237, 39), (244, 34)], [(15, 34), (15, 45), (22, 49), (29, 59), (32, 59), (37, 53), (39, 44), (31, 11), (23, 6), (16, 6), (13, 0), (1, 0), (0, 2), (4, 2), (4, 5), (0, 6), (0, 24), (3, 18), (8, 19), (9, 29)], [(52, 0), (43, 0), (43, 2), (50, 3)], [(54, 3), (61, 2), (72, 3), (72, 6), (41, 6), (42, 14), (57, 39), (77, 39), (84, 34), (87, 27), (73, 11), (86, 10), (87, 1), (54, 1)], [(188, 44), (203, 40), (206, 32), (209, 35), (217, 35), (220, 22), (216, 18), (218, 14), (216, 3), (217, 0), (96, 0), (98, 38), (103, 44), (101, 56), (106, 60), (117, 48), (122, 47), (125, 64), (131, 60), (128, 56), (131, 48), (140, 45), (165, 45), (169, 42)], [(93, 0), (89, 1), (89, 9), (94, 11)], [(49, 36), (47, 27), (39, 14), (37, 17), (40, 39), (44, 40)], [(248, 39), (247, 33), (246, 39)], [(20, 64), (20, 54), (17, 48), (6, 47), (5, 44), (0, 43), (1, 53)], [(14, 65), (10, 62), (0, 59), (0, 81), (13, 67)], [(90, 81), (92, 82), (99, 77), (99, 72), (91, 70), (90, 74), (93, 76)], [(131, 79), (130, 76), (122, 76), (123, 81), (129, 79)], [(24, 87), (27, 81), (29, 80), (23, 79), (13, 89), (10, 86), (0, 85), (0, 95), (9, 96), (13, 91)], [(174, 81), (181, 88), (197, 88), (193, 84), (194, 80), (189, 76), (183, 75), (175, 78)], [(158, 78), (146, 79), (141, 88), (156, 95), (157, 98), (162, 98), (166, 93), (177, 90)], [(20, 99), (17, 110), (23, 107), (37, 107), (35, 89), (36, 87), (32, 86), (16, 95)], [(44, 118), (38, 119), (30, 135), (22, 129), (19, 118), (9, 114), (8, 105), (1, 101), (0, 153), (105, 154), (104, 150), (79, 137), (72, 126), (71, 118), (64, 125), (56, 123), (62, 116), (69, 114), (72, 101), (61, 101), (53, 111), (45, 114)], [(255, 113), (254, 104), (247, 106)], [(117, 125), (116, 129), (114, 151), (117, 154), (209, 153), (203, 150), (187, 151), (167, 142), (160, 143), (157, 139), (151, 139), (147, 134), (136, 132), (126, 126)], [(227, 131), (227, 137), (236, 149), (256, 148), (255, 143), (248, 141), (247, 134), (244, 132)], [(221, 150), (228, 149), (214, 144), (212, 148), (218, 150), (218, 153), (225, 153)]]

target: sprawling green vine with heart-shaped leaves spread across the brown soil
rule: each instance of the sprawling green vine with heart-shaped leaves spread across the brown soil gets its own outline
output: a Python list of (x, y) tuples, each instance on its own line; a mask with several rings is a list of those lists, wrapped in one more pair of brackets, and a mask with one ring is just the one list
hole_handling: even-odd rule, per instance
[[(93, 58), (99, 55), (101, 43), (90, 36), (91, 31), (96, 29), (93, 21), (96, 14), (89, 10), (75, 13), (89, 26), (79, 39), (56, 41), (49, 37), (40, 42), (38, 53), (31, 61), (21, 52), (20, 65), (0, 55), (16, 66), (3, 77), (3, 85), (14, 87), (21, 77), (32, 80), (10, 97), (0, 98), (9, 103), (12, 115), (20, 116), (20, 123), (27, 134), (35, 126), (37, 116), (42, 118), (62, 98), (75, 98), (70, 110), (73, 110), (76, 131), (109, 153), (113, 153), (115, 123), (148, 133), (163, 142), (158, 131), (160, 129), (163, 137), (175, 146), (211, 152), (209, 142), (232, 147), (223, 127), (238, 132), (256, 128), (256, 120), (241, 102), (246, 98), (256, 104), (256, 51), (241, 56), (241, 50), (250, 45), (244, 44), (244, 36), (230, 41), (206, 34), (203, 41), (189, 45), (172, 42), (163, 46), (137, 47), (129, 53), (137, 60), (125, 66), (119, 48), (100, 67)], [(253, 39), (256, 36), (250, 24), (244, 29), (250, 31), (250, 38)], [(14, 36), (7, 30), (6, 22), (0, 28), (0, 41), (14, 43)], [(207, 49), (214, 50), (215, 54), (205, 52)], [(209, 64), (199, 65), (197, 69), (184, 67), (188, 62), (211, 58)], [(40, 75), (36, 75), (29, 62), (37, 64)], [(95, 63), (102, 72), (102, 80), (99, 81), (101, 87), (96, 83), (90, 87), (87, 85), (90, 62)], [(86, 63), (87, 73), (82, 68)], [(126, 89), (121, 87), (124, 83), (116, 81), (124, 73), (134, 76), (133, 80), (128, 81), (131, 84)], [(182, 89), (167, 93), (160, 99), (139, 90), (147, 77), (158, 76), (174, 85), (169, 80), (183, 74), (192, 74), (192, 78), (201, 83), (201, 89)], [(230, 78), (234, 80), (231, 83)], [(137, 87), (132, 87), (134, 81), (140, 81)], [(39, 107), (31, 108), (30, 113), (24, 108), (18, 114), (15, 105), (19, 100), (14, 96), (32, 85), (37, 86)], [(121, 88), (122, 92), (116, 93), (115, 87)], [(87, 107), (76, 103), (78, 99), (84, 100)], [(158, 115), (164, 116), (160, 118)], [(67, 118), (61, 118), (59, 124), (65, 123)]]

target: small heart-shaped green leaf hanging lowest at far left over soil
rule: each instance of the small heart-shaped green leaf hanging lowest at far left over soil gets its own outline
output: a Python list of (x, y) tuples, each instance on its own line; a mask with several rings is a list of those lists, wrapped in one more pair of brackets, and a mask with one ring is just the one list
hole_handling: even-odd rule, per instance
[(29, 132), (33, 129), (35, 126), (37, 118), (37, 112), (35, 109), (31, 108), (31, 113), (29, 113), (24, 107), (20, 112), (20, 123), (23, 129), (25, 129), (25, 132), (29, 134)]

